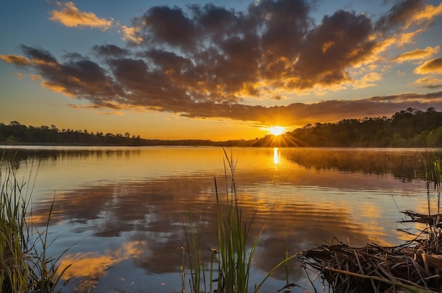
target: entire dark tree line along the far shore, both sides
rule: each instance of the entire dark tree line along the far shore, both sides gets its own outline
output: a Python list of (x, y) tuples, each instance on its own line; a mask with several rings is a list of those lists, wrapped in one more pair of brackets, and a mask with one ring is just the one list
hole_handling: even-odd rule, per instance
[(56, 126), (25, 126), (18, 121), (0, 123), (0, 142), (6, 144), (55, 145), (223, 145), (263, 147), (359, 147), (359, 148), (441, 148), (442, 112), (408, 108), (386, 116), (343, 119), (336, 123), (307, 124), (280, 136), (253, 140), (155, 140), (130, 133), (73, 131)]

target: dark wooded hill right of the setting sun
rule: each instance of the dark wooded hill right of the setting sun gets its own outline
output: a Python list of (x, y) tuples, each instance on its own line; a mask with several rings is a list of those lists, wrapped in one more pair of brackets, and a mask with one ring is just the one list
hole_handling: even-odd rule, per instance
[(265, 136), (254, 146), (340, 148), (441, 148), (442, 112), (408, 108), (386, 116), (307, 124), (282, 136)]

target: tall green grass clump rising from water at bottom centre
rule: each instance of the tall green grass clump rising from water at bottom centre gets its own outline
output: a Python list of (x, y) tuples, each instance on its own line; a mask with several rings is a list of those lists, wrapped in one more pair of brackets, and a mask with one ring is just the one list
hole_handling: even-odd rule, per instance
[[(224, 150), (224, 148), (223, 148)], [(201, 257), (201, 237), (194, 229), (192, 213), (189, 210), (189, 220), (191, 232), (188, 234), (184, 229), (186, 237), (186, 251), (188, 253), (189, 268), (191, 279), (189, 280), (191, 292), (223, 292), (223, 293), (246, 293), (249, 292), (249, 281), (251, 278), (251, 267), (253, 254), (258, 246), (258, 241), (265, 227), (255, 239), (250, 241), (250, 232), (256, 212), (251, 219), (245, 220), (239, 205), (237, 189), (234, 182), (234, 172), (237, 161), (234, 161), (232, 155), (227, 155), (224, 150), (225, 160), (225, 202), (222, 201), (217, 180), (215, 178), (216, 193), (216, 213), (217, 213), (217, 249), (210, 249), (212, 255), (208, 265), (208, 275), (205, 275), (205, 265)], [(250, 244), (251, 243), (251, 244)], [(297, 258), (300, 254), (296, 253), (289, 256), (275, 265), (270, 272), (263, 278), (262, 282), (253, 285), (253, 291), (258, 292), (263, 283), (282, 265), (285, 265), (286, 283), (288, 288), (289, 270), (288, 262)], [(183, 258), (184, 262), (184, 258)], [(181, 265), (181, 274), (184, 273), (184, 264)], [(216, 275), (217, 274), (217, 275)], [(184, 282), (184, 278), (183, 278)], [(214, 283), (217, 287), (214, 289)], [(184, 292), (185, 284), (183, 284)], [(207, 291), (209, 287), (209, 291)]]

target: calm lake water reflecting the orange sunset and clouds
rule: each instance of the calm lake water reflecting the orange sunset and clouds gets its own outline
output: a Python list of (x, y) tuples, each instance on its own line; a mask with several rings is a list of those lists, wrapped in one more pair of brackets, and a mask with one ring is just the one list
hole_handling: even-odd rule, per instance
[[(311, 249), (333, 237), (352, 246), (401, 244), (409, 238), (397, 228), (410, 225), (397, 223), (399, 210), (428, 210), (426, 186), (414, 179), (414, 169), (424, 165), (422, 150), (226, 151), (237, 162), (234, 180), (244, 217), (249, 220), (258, 210), (253, 240), (265, 225), (252, 285), (284, 259), (286, 250)], [(49, 252), (71, 246), (61, 262), (72, 263), (62, 292), (179, 292), (189, 210), (203, 246), (217, 246), (214, 178), (225, 195), (224, 159), (222, 148), (18, 150), (18, 176), (37, 173), (33, 220), (44, 223), (55, 201)], [(209, 249), (203, 253), (210, 258)], [(292, 292), (312, 290), (299, 263), (290, 265), (289, 274), (300, 286)], [(315, 284), (323, 292), (321, 282)], [(261, 292), (284, 285), (285, 273), (277, 271)]]

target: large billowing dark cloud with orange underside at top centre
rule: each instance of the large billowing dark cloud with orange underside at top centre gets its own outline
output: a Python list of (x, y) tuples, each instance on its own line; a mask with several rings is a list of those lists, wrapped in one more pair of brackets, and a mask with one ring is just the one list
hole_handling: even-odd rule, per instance
[[(261, 1), (248, 13), (208, 4), (181, 8), (150, 8), (134, 20), (149, 50), (189, 59), (192, 76), (210, 97), (258, 97), (284, 88), (304, 90), (347, 81), (346, 68), (369, 56), (371, 21), (364, 15), (338, 11), (312, 27), (304, 1)], [(324, 48), (326, 47), (326, 50)], [(171, 54), (172, 55), (172, 54)], [(175, 71), (176, 72), (176, 71)], [(196, 100), (210, 97), (196, 95)]]

